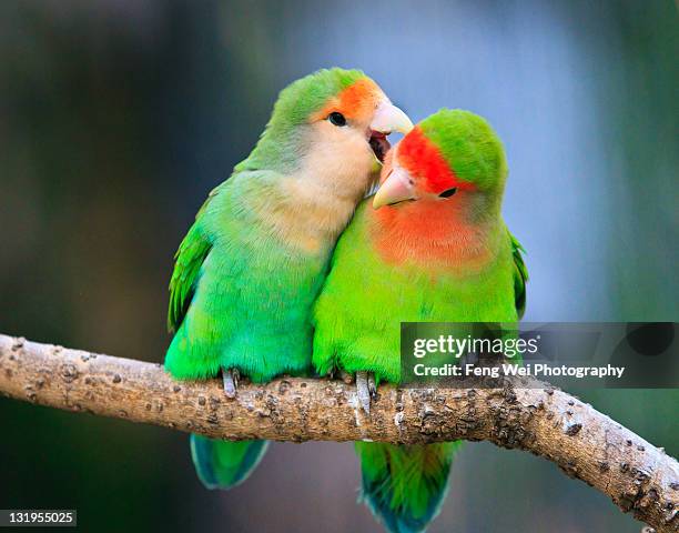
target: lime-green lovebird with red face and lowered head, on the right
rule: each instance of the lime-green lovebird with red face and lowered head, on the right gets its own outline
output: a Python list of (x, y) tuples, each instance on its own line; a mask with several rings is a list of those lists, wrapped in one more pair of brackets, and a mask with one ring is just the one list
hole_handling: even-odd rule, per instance
[[(356, 374), (368, 414), (375, 383), (401, 380), (401, 322), (521, 316), (528, 275), (500, 214), (506, 174), (500, 140), (467, 111), (438, 111), (389, 151), (382, 185), (340, 239), (314, 309), (317, 372)], [(363, 500), (387, 530), (426, 529), (458, 445), (356, 443)]]

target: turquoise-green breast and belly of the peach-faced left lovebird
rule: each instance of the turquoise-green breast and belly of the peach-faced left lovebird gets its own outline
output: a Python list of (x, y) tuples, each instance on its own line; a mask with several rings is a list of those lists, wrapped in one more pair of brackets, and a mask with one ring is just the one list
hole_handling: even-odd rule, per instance
[(165, 365), (178, 378), (225, 366), (266, 381), (311, 363), (311, 309), (333, 243), (314, 253), (287, 244), (252, 209), (249, 187), (236, 185), (227, 182), (196, 221), (211, 248), (168, 351)]

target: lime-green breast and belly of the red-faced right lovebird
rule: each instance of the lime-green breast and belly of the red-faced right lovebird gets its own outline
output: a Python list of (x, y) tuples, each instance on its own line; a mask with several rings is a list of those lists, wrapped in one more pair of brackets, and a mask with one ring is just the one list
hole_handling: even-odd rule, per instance
[[(514, 322), (511, 252), (497, 250), (476, 273), (385, 262), (359, 211), (341, 238), (314, 309), (314, 363), (332, 353), (349, 372), (398, 381), (401, 322)], [(322, 369), (320, 369), (322, 370)]]

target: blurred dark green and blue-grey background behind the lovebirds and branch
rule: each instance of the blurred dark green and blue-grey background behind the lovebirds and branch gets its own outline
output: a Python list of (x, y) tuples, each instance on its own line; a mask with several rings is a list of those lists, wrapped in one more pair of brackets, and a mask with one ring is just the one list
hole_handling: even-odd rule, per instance
[[(505, 140), (529, 321), (679, 319), (677, 7), (648, 1), (0, 2), (0, 332), (161, 361), (172, 255), (290, 81), (361, 68)], [(589, 391), (679, 454), (678, 391)], [(0, 400), (0, 507), (83, 531), (379, 531), (349, 444), (207, 492), (186, 435)], [(638, 532), (544, 460), (467, 445), (432, 532)]]

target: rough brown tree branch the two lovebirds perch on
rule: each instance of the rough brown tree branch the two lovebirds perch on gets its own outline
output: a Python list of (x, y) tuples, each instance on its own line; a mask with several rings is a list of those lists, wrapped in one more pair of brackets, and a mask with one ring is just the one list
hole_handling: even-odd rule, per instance
[(383, 385), (369, 419), (356, 389), (284, 378), (242, 385), (178, 382), (161, 365), (0, 335), (0, 393), (32, 403), (230, 440), (489, 441), (555, 462), (658, 532), (679, 531), (679, 463), (608, 416), (546, 383), (503, 389)]

